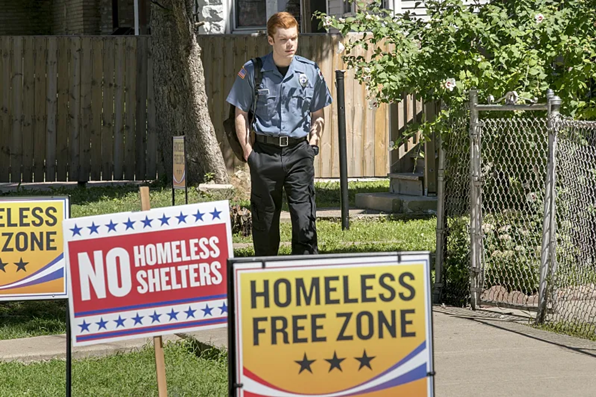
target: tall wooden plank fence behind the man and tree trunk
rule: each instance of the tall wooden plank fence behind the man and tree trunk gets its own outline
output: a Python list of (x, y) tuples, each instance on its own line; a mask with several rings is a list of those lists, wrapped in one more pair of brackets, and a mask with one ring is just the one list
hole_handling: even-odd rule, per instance
[[(339, 177), (335, 70), (344, 69), (339, 35), (300, 35), (299, 55), (321, 67), (334, 103), (315, 175)], [(209, 113), (228, 170), (246, 166), (228, 147), (225, 98), (242, 64), (270, 51), (265, 36), (201, 35)], [(360, 54), (371, 56), (364, 49)], [(21, 56), (18, 56), (21, 54)], [(159, 156), (149, 36), (0, 36), (0, 182), (154, 179)], [(390, 140), (421, 104), (370, 107), (353, 71), (345, 75), (350, 177), (386, 176), (416, 144), (390, 152)]]

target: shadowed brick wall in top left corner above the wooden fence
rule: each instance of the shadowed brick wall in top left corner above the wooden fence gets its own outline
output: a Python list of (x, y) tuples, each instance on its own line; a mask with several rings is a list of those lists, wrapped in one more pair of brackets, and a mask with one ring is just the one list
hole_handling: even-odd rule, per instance
[(0, 35), (49, 35), (52, 0), (0, 0)]

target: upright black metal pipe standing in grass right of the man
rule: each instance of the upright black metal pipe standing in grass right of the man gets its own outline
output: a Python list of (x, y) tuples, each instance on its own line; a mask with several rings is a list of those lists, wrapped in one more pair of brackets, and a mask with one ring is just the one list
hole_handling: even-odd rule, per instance
[(350, 228), (349, 202), (347, 195), (347, 149), (346, 149), (346, 98), (344, 95), (344, 72), (336, 70), (337, 87), (337, 132), (339, 140), (339, 175), (342, 191), (342, 229)]

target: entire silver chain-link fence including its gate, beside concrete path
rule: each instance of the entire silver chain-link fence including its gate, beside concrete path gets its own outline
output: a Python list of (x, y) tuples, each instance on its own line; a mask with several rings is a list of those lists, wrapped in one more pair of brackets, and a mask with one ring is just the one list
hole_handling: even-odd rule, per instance
[(469, 106), (452, 113), (439, 153), (435, 296), (536, 311), (538, 322), (594, 337), (596, 122), (555, 112), (549, 123), (547, 109), (481, 111), (477, 122)]

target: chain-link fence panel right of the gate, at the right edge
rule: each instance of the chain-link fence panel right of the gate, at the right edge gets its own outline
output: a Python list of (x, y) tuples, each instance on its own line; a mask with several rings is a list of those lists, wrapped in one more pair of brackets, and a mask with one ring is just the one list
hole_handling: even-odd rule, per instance
[(596, 122), (558, 116), (555, 146), (555, 260), (552, 311), (566, 333), (596, 336)]

